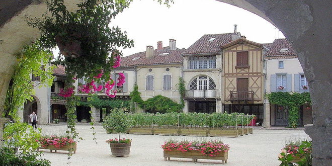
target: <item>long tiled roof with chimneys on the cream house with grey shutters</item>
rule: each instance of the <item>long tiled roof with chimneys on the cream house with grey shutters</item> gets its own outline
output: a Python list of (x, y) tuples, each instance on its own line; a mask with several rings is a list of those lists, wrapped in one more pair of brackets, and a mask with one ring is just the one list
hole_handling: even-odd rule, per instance
[[(121, 67), (124, 66), (139, 66), (139, 65), (152, 65), (152, 64), (174, 64), (174, 63), (182, 63), (183, 57), (181, 53), (185, 51), (185, 49), (176, 49), (170, 50), (170, 47), (163, 47), (161, 50), (154, 50), (153, 56), (146, 58), (146, 51), (138, 52), (126, 57), (121, 58)], [(163, 55), (163, 53), (169, 53), (167, 55)], [(133, 60), (136, 59), (136, 60)]]

